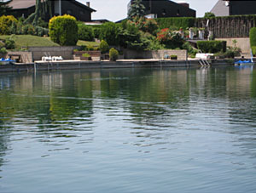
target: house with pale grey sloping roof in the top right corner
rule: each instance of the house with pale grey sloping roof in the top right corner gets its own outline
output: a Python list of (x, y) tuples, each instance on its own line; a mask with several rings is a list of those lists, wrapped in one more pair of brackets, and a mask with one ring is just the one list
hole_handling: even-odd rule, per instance
[(218, 0), (211, 12), (215, 16), (256, 14), (256, 1)]

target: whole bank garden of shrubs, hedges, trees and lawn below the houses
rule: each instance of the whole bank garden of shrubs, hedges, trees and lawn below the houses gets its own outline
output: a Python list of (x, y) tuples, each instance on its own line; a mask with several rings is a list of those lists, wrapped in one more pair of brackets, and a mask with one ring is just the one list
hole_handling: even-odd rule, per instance
[[(49, 23), (45, 22), (39, 4), (37, 1), (35, 13), (27, 19), (16, 19), (12, 15), (0, 17), (0, 54), (6, 54), (8, 50), (26, 50), (31, 46), (76, 45), (80, 48), (74, 51), (101, 51), (110, 54), (110, 60), (116, 60), (116, 54), (122, 54), (124, 49), (186, 49), (190, 58), (195, 58), (199, 50), (218, 58), (234, 58), (241, 53), (236, 43), (227, 48), (225, 42), (214, 41), (213, 37), (211, 41), (189, 43), (189, 31), (194, 31), (195, 37), (199, 36), (198, 31), (205, 31), (195, 27), (195, 18), (147, 19), (143, 17), (140, 0), (133, 3), (127, 20), (100, 26), (86, 26), (71, 15), (55, 16)], [(114, 50), (109, 53), (110, 48)], [(90, 58), (88, 54), (84, 56)]]

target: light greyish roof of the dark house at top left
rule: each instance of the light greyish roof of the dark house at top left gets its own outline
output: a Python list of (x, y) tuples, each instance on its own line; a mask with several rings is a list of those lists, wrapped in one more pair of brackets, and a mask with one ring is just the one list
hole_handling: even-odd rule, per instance
[[(84, 5), (83, 3), (77, 2), (76, 0), (71, 0), (71, 2), (77, 4), (80, 7), (83, 7), (84, 9), (89, 10), (90, 12), (96, 12), (95, 9), (91, 9), (88, 6)], [(36, 5), (36, 0), (13, 0), (12, 2), (9, 3), (9, 7), (11, 7), (12, 9), (28, 9), (35, 5)]]

